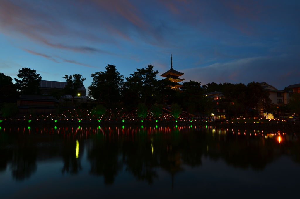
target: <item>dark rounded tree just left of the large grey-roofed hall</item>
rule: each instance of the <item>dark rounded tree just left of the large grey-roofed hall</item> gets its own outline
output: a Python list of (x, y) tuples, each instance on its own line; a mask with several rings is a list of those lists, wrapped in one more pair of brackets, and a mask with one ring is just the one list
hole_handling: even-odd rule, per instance
[(40, 74), (37, 74), (36, 72), (36, 70), (32, 70), (30, 68), (22, 68), (21, 70), (18, 70), (17, 77), (20, 79), (15, 78), (15, 81), (17, 89), (21, 94), (41, 94), (39, 86), (42, 77), (40, 77)]

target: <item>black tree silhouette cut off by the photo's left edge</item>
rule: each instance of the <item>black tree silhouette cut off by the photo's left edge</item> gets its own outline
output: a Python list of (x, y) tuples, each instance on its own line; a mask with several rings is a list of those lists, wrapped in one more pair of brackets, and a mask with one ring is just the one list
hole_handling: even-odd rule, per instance
[(17, 91), (16, 84), (12, 83), (12, 78), (0, 73), (0, 103), (16, 102), (19, 97), (20, 94)]

